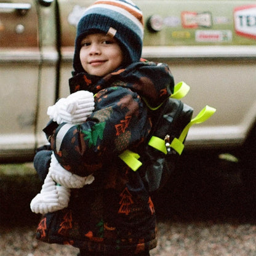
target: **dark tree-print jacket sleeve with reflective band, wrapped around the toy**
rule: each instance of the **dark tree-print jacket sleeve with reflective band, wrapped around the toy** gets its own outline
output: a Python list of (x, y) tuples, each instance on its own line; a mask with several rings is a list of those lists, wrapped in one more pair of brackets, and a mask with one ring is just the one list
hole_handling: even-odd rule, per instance
[(137, 93), (109, 87), (96, 95), (95, 111), (86, 122), (64, 123), (56, 129), (54, 152), (66, 170), (86, 176), (146, 137), (150, 127)]

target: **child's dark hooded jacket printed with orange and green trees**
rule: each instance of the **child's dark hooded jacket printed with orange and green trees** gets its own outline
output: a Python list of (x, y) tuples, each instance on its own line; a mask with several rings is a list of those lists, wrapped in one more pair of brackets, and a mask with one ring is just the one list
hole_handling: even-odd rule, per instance
[(42, 217), (38, 239), (111, 255), (136, 255), (156, 246), (153, 202), (140, 173), (118, 154), (134, 150), (150, 132), (143, 100), (158, 106), (173, 87), (168, 66), (153, 62), (133, 63), (104, 78), (74, 74), (71, 93), (93, 92), (95, 110), (81, 125), (60, 124), (52, 149), (65, 169), (94, 174), (95, 180), (72, 190), (68, 208)]

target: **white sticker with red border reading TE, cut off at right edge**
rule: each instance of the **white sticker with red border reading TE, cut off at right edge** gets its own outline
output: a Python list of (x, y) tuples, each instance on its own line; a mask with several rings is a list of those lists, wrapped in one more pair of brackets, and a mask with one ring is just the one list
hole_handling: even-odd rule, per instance
[(234, 28), (239, 36), (256, 39), (256, 4), (234, 9)]

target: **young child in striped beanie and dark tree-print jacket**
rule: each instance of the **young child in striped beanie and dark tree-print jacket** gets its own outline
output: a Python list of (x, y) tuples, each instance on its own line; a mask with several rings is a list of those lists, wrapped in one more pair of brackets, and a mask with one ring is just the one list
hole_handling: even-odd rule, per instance
[(142, 12), (131, 1), (96, 1), (81, 18), (70, 92), (92, 92), (95, 109), (81, 124), (50, 124), (51, 150), (39, 151), (34, 166), (46, 177), (53, 152), (68, 172), (95, 180), (71, 190), (68, 207), (42, 217), (41, 241), (87, 256), (150, 255), (156, 246), (154, 206), (139, 169), (118, 157), (136, 151), (151, 130), (144, 100), (158, 106), (174, 89), (167, 65), (140, 60), (142, 40)]

